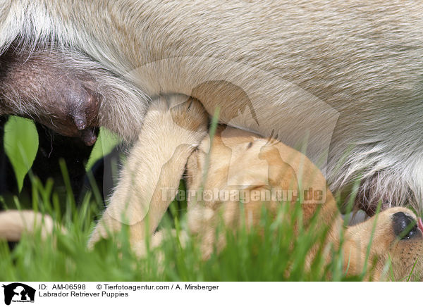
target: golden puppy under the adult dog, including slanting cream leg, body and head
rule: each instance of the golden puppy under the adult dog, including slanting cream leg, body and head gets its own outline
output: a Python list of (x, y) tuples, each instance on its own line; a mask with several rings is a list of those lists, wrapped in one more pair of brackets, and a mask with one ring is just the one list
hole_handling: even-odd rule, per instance
[[(305, 155), (274, 139), (226, 125), (219, 125), (211, 139), (206, 134), (207, 121), (202, 105), (188, 96), (153, 101), (135, 144), (137, 151), (133, 150), (135, 154), (128, 158), (116, 189), (125, 193), (114, 194), (119, 199), (112, 199), (92, 234), (90, 246), (125, 223), (130, 225), (130, 242), (135, 251), (145, 253), (145, 236), (154, 233), (173, 199), (171, 192), (178, 187), (185, 163), (187, 194), (195, 196), (188, 197), (189, 231), (200, 238), (204, 258), (212, 253), (215, 244), (218, 249), (225, 244), (223, 238), (215, 237), (220, 217), (233, 230), (241, 219), (251, 227), (257, 226), (262, 206), (276, 216), (282, 203), (288, 203), (288, 212), (301, 204), (305, 227), (317, 214), (321, 225), (331, 225), (327, 243), (339, 243), (343, 220), (336, 201), (324, 176)], [(196, 147), (196, 142), (200, 146)], [(244, 211), (240, 210), (241, 201)], [(158, 245), (163, 235), (154, 234), (152, 246)], [(409, 209), (389, 208), (345, 230), (343, 252), (349, 274), (362, 272), (371, 239), (369, 262), (377, 261), (372, 280), (384, 277), (388, 258), (398, 280), (410, 274), (416, 261), (415, 274), (423, 272), (422, 261), (417, 259), (423, 251), (423, 224)], [(310, 251), (307, 262), (317, 247)]]

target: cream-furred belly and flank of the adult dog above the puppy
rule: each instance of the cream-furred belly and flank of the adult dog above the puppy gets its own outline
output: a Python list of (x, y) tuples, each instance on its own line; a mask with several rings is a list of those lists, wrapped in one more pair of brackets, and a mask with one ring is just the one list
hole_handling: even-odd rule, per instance
[[(136, 99), (100, 108), (100, 125), (126, 139), (148, 96), (188, 94), (209, 113), (221, 106), (223, 123), (291, 146), (308, 137), (314, 162), (329, 149), (331, 188), (362, 175), (359, 203), (420, 206), (422, 11), (399, 0), (1, 0), (0, 48), (82, 51), (135, 84)], [(245, 100), (220, 80), (257, 118), (236, 116)]]

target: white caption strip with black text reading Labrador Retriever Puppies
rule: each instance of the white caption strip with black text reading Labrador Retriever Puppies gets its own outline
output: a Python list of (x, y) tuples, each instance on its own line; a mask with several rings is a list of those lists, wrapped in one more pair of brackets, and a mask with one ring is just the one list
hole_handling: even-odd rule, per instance
[[(389, 306), (419, 283), (368, 282), (0, 282), (0, 306)], [(384, 295), (389, 293), (390, 295)], [(412, 293), (412, 292), (411, 292)], [(418, 293), (418, 292), (416, 292)], [(398, 295), (396, 295), (398, 294)], [(356, 297), (357, 299), (351, 299)], [(101, 305), (98, 305), (101, 304)], [(318, 304), (318, 305), (317, 305)], [(242, 305), (241, 305), (242, 306)], [(217, 305), (217, 307), (220, 307)]]

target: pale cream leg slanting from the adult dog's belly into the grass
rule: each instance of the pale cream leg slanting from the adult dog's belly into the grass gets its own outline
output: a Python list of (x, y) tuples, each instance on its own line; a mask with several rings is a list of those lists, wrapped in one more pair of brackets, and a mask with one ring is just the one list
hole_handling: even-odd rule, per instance
[(131, 243), (152, 234), (173, 199), (168, 192), (178, 188), (188, 156), (206, 132), (207, 113), (195, 99), (172, 95), (154, 101), (89, 246), (123, 223), (130, 226)]

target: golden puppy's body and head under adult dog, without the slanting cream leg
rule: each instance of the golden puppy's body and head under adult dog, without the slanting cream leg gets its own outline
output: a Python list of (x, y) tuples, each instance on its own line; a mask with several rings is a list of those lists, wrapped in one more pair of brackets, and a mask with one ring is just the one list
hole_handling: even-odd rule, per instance
[[(231, 165), (231, 161), (235, 163)], [(263, 168), (263, 161), (266, 161), (268, 168)], [(233, 172), (236, 174), (235, 178), (229, 175), (229, 168), (233, 167), (236, 168), (236, 172)], [(336, 246), (339, 243), (343, 220), (335, 199), (326, 187), (326, 180), (307, 157), (281, 142), (268, 142), (256, 134), (221, 125), (212, 142), (207, 136), (192, 153), (188, 160), (187, 173), (189, 195), (200, 189), (219, 191), (220, 195), (222, 192), (231, 195), (238, 190), (241, 195), (250, 197), (244, 203), (244, 211), (240, 211), (240, 201), (222, 201), (219, 197), (205, 200), (204, 195), (203, 201), (188, 199), (189, 229), (190, 232), (199, 234), (205, 257), (212, 253), (214, 244), (218, 244), (218, 249), (224, 245), (224, 236), (216, 238), (216, 227), (221, 217), (228, 227), (236, 227), (242, 219), (245, 219), (247, 225), (258, 226), (262, 206), (266, 206), (276, 217), (283, 201), (291, 203), (290, 206), (295, 206), (295, 202), (301, 203), (306, 227), (310, 218), (318, 214), (321, 225), (331, 225), (327, 242)], [(206, 180), (202, 179), (204, 173), (207, 173)], [(259, 184), (259, 181), (269, 183)], [(227, 182), (232, 182), (232, 185)], [(313, 195), (309, 195), (311, 190)], [(267, 200), (266, 192), (270, 196), (272, 192), (276, 192), (273, 195), (276, 196), (275, 199), (267, 197)], [(308, 200), (304, 193), (308, 194)], [(279, 199), (283, 199), (282, 203), (277, 199), (278, 195), (281, 196)], [(256, 200), (253, 199), (254, 196)], [(292, 196), (291, 199), (289, 196)], [(242, 212), (244, 216), (241, 216)], [(409, 231), (400, 239), (401, 232), (408, 226)], [(373, 227), (374, 237), (371, 238)], [(348, 227), (343, 245), (345, 269), (348, 267), (349, 274), (360, 274), (364, 265), (369, 268), (369, 263), (376, 261), (372, 276), (367, 278), (380, 280), (387, 277), (382, 272), (390, 258), (396, 280), (410, 274), (415, 263), (414, 272), (419, 276), (423, 272), (423, 263), (418, 261), (423, 251), (422, 232), (422, 221), (412, 211), (401, 207), (389, 208), (377, 217)], [(369, 242), (371, 249), (369, 262), (366, 263)], [(312, 260), (315, 251), (316, 249), (310, 251), (308, 261)]]

